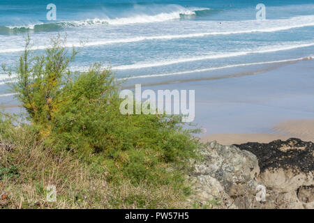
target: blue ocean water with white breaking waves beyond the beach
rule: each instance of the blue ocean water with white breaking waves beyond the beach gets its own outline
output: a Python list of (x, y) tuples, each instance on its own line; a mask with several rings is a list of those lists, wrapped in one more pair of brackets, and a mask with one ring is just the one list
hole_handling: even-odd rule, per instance
[[(48, 3), (57, 6), (55, 21), (47, 20)], [(266, 20), (255, 19), (257, 3), (266, 6)], [(1, 0), (0, 64), (17, 64), (27, 33), (35, 54), (51, 36), (66, 35), (68, 47), (80, 48), (73, 71), (102, 62), (138, 84), (181, 81), (312, 59), (314, 1)], [(8, 81), (0, 72), (2, 98)]]

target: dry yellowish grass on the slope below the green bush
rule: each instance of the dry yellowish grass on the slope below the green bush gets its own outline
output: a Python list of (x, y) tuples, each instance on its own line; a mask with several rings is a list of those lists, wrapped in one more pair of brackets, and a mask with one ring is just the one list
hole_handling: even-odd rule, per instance
[[(56, 155), (24, 128), (6, 131), (9, 139), (0, 135), (0, 208), (183, 208), (184, 197), (170, 186), (108, 183), (105, 167)], [(1, 177), (1, 169), (12, 167)], [(47, 202), (47, 185), (57, 187), (57, 202)]]

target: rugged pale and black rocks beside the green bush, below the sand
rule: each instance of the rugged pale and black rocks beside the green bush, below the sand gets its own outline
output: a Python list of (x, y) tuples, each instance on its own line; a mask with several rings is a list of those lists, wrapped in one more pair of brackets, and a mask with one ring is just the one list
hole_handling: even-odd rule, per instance
[(314, 144), (300, 139), (223, 146), (201, 151), (189, 176), (190, 202), (216, 208), (314, 208)]

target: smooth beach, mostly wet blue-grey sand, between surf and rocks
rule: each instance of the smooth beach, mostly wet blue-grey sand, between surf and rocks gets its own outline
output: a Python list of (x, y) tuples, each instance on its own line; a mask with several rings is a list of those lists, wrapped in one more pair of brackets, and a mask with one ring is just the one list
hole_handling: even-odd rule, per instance
[[(266, 143), (291, 137), (314, 141), (312, 134), (306, 134), (306, 131), (314, 132), (307, 123), (314, 120), (314, 89), (311, 84), (314, 82), (314, 60), (277, 64), (276, 68), (253, 73), (246, 70), (246, 75), (243, 70), (240, 70), (241, 75), (239, 70), (232, 70), (219, 78), (211, 77), (210, 73), (207, 79), (190, 79), (188, 82), (137, 84), (142, 84), (143, 91), (195, 90), (193, 123), (205, 130), (204, 134), (198, 135), (202, 141)], [(13, 95), (3, 97), (0, 109), (10, 113), (22, 111)]]

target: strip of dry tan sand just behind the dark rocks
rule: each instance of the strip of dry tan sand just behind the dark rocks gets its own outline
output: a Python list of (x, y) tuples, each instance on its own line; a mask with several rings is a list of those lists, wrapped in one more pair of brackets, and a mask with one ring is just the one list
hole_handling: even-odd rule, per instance
[(226, 134), (209, 134), (202, 137), (202, 141), (214, 141), (219, 144), (244, 144), (248, 141), (269, 143), (276, 139), (287, 140), (290, 138), (299, 138), (304, 141), (314, 141), (314, 119), (306, 120), (290, 120), (283, 121), (275, 125), (271, 130), (276, 134), (271, 133), (226, 133)]

